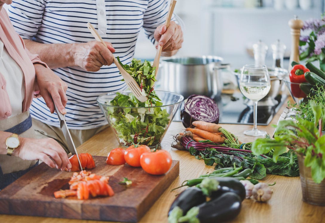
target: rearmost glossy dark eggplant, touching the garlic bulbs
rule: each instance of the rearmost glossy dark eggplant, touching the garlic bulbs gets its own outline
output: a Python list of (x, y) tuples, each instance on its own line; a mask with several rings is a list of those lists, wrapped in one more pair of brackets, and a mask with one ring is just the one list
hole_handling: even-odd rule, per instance
[(246, 190), (244, 185), (233, 177), (213, 177), (219, 182), (218, 190), (211, 193), (211, 198), (217, 198), (225, 192), (234, 192), (237, 194), (241, 201), (245, 199)]

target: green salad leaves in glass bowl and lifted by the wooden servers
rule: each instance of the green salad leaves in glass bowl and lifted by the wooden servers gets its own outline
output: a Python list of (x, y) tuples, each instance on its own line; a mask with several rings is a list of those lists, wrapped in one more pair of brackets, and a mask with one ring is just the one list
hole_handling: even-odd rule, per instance
[[(119, 63), (120, 59), (117, 58)], [(122, 65), (122, 64), (121, 64)], [(170, 121), (169, 114), (162, 106), (162, 101), (154, 91), (155, 68), (149, 61), (141, 63), (133, 59), (130, 65), (122, 65), (133, 76), (139, 86), (146, 92), (148, 100), (140, 102), (130, 93), (117, 93), (116, 97), (108, 102), (108, 118), (114, 128), (120, 143), (130, 146), (132, 143), (155, 146)]]

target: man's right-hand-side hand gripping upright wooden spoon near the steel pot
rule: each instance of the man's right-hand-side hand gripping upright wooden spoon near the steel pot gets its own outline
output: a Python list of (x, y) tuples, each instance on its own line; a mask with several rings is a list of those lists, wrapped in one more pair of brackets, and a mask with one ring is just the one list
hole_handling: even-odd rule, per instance
[[(166, 25), (157, 27), (154, 32), (154, 38), (162, 46), (162, 52), (173, 52), (172, 54), (175, 54), (182, 47), (183, 31), (180, 25), (170, 21), (168, 29), (166, 29)], [(158, 45), (156, 48), (158, 48)]]

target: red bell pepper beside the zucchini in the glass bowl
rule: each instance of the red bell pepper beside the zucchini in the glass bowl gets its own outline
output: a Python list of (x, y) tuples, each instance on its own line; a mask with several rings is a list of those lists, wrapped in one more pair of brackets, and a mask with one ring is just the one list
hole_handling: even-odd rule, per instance
[(292, 83), (297, 83), (297, 84), (291, 84), (291, 93), (293, 97), (296, 98), (307, 97), (307, 95), (299, 87), (299, 83), (307, 82), (305, 79), (305, 73), (307, 71), (310, 70), (301, 64), (297, 64), (292, 67), (292, 70), (289, 74), (289, 78)]

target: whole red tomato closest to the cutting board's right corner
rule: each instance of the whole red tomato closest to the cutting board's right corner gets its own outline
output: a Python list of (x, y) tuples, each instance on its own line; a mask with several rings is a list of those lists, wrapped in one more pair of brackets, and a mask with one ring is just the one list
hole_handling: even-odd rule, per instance
[(172, 157), (167, 150), (156, 150), (154, 152), (143, 153), (140, 164), (144, 171), (153, 175), (166, 173), (172, 166)]

